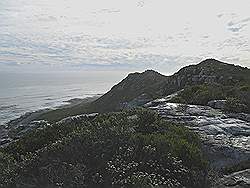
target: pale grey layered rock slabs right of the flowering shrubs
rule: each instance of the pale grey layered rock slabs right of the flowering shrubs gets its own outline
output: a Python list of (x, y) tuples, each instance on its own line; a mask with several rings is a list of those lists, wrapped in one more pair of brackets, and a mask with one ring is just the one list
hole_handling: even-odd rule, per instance
[[(170, 103), (170, 98), (156, 99), (145, 107), (164, 119), (183, 123), (197, 132), (203, 141), (210, 168), (215, 172), (239, 164), (249, 167), (250, 114), (225, 114), (209, 106)], [(248, 187), (250, 169), (223, 176), (215, 186)]]

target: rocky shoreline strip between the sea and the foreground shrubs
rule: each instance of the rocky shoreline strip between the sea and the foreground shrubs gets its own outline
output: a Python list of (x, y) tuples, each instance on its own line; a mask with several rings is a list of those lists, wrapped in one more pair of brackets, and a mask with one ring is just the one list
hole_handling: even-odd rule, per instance
[[(47, 116), (51, 116), (56, 120), (61, 120), (63, 118), (71, 116), (69, 111), (74, 111), (75, 108), (79, 108), (83, 110), (84, 107), (88, 106), (91, 102), (98, 99), (101, 94), (97, 94), (91, 97), (86, 98), (72, 98), (68, 101), (63, 101), (67, 104), (60, 105), (56, 108), (46, 108), (41, 110), (36, 110), (33, 112), (26, 112), (24, 115), (10, 120), (6, 124), (0, 126), (0, 148), (8, 145), (14, 140), (19, 139), (22, 135), (26, 134), (29, 130), (46, 127), (53, 121), (49, 121), (49, 118), (45, 118)], [(62, 114), (57, 112), (64, 112)], [(80, 115), (81, 111), (78, 109), (78, 115)], [(56, 117), (54, 117), (56, 116)], [(52, 119), (53, 119), (52, 118)]]

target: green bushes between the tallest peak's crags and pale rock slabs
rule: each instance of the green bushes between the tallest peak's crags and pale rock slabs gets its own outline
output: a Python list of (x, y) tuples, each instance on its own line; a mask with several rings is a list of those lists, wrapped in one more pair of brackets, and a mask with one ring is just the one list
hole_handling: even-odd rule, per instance
[(207, 105), (211, 100), (226, 100), (224, 110), (227, 112), (250, 113), (250, 85), (238, 84), (223, 86), (221, 84), (201, 84), (188, 86), (172, 102)]

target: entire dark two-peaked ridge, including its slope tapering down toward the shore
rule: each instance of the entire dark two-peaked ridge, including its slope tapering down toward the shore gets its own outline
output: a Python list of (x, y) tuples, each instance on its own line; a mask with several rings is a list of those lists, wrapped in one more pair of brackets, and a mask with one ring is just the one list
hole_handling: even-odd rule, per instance
[(210, 100), (231, 98), (233, 103), (243, 103), (244, 111), (250, 112), (250, 69), (207, 59), (171, 76), (153, 70), (131, 73), (96, 101), (48, 112), (41, 119), (56, 121), (82, 113), (119, 111), (182, 89), (175, 102), (207, 105)]

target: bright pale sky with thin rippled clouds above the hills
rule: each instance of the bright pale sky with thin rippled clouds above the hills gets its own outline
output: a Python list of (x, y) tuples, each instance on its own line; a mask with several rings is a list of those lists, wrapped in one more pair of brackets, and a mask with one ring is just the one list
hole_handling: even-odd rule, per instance
[(0, 0), (0, 72), (250, 68), (249, 0)]

